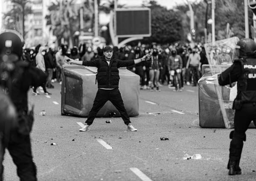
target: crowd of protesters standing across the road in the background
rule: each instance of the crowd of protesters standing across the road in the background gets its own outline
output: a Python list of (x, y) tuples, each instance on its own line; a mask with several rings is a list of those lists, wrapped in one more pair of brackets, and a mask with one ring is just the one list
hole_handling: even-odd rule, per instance
[[(113, 57), (120, 60), (132, 60), (151, 54), (151, 60), (127, 67), (128, 70), (140, 76), (140, 89), (160, 91), (161, 86), (168, 86), (174, 92), (182, 92), (183, 85), (197, 86), (201, 77), (201, 67), (208, 64), (204, 47), (196, 45), (191, 48), (186, 45), (157, 44), (113, 47)], [(25, 49), (23, 58), (41, 69), (47, 80), (41, 87), (45, 95), (49, 95), (47, 89), (54, 88), (52, 83), (61, 84), (61, 67), (64, 60), (70, 57), (74, 60), (89, 61), (103, 56), (101, 48), (94, 49), (91, 46), (81, 44), (79, 47), (69, 48), (61, 45), (58, 50), (47, 46), (38, 45), (35, 49)], [(37, 87), (33, 87), (32, 95), (38, 95)]]

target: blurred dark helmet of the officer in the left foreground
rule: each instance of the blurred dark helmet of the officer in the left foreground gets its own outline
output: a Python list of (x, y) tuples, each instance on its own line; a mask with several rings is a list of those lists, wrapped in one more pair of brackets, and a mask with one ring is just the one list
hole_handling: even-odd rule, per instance
[[(0, 56), (10, 57), (8, 60), (17, 61), (22, 56), (23, 37), (15, 30), (0, 33)], [(7, 56), (5, 56), (7, 55)]]

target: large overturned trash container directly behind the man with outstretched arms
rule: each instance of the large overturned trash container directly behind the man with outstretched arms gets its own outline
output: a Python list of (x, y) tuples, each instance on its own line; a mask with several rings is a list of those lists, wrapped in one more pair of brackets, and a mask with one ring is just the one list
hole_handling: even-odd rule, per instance
[[(96, 67), (63, 65), (61, 85), (61, 115), (87, 117), (93, 106), (98, 90)], [(129, 116), (139, 115), (140, 76), (127, 69), (119, 69), (119, 90)], [(111, 113), (120, 114), (108, 101), (96, 117), (109, 117)]]

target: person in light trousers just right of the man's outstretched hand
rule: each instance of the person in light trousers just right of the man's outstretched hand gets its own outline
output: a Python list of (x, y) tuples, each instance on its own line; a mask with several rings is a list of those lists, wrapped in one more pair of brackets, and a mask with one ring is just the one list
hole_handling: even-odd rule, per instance
[(159, 92), (159, 76), (160, 76), (160, 62), (157, 49), (153, 49), (151, 60), (149, 61), (149, 86), (151, 90), (156, 88)]

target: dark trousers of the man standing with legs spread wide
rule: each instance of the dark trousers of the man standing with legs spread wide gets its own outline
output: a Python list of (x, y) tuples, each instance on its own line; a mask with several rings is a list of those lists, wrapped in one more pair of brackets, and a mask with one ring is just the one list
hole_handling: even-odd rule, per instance
[(86, 124), (93, 124), (93, 120), (95, 119), (97, 113), (107, 101), (113, 103), (116, 109), (120, 112), (122, 120), (125, 122), (126, 125), (131, 123), (130, 118), (126, 112), (121, 93), (119, 92), (119, 89), (116, 88), (112, 90), (98, 89), (93, 102), (93, 107), (89, 112), (87, 120), (85, 121)]

